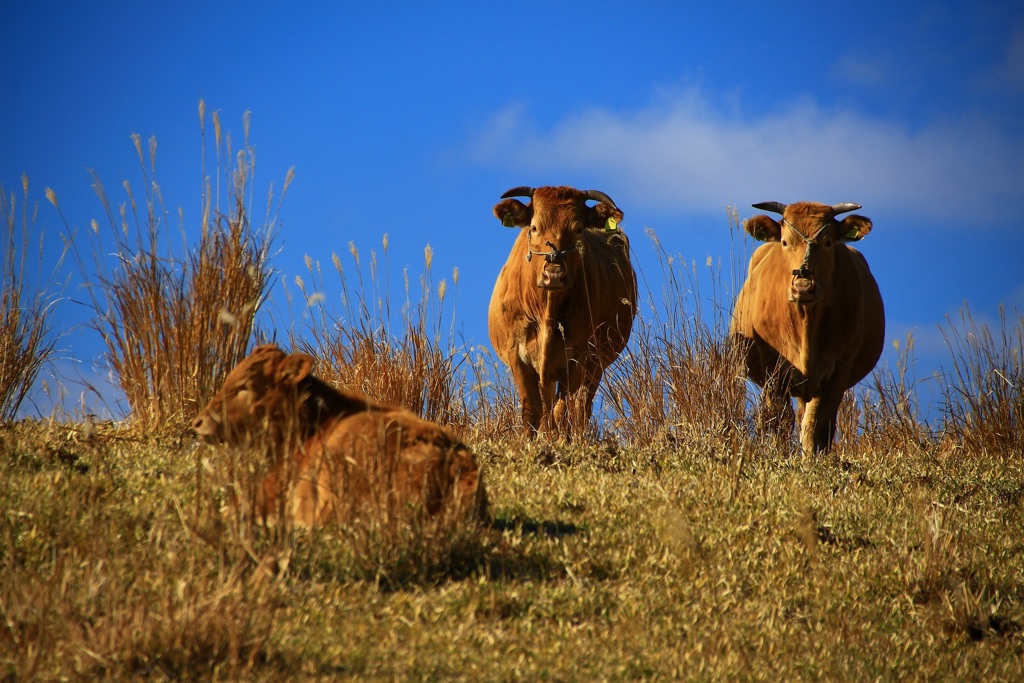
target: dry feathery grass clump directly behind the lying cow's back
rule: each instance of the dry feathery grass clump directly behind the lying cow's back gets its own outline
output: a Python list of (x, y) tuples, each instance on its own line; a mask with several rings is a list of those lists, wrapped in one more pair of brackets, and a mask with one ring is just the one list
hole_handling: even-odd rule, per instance
[[(369, 273), (353, 243), (349, 253), (349, 270), (341, 256), (331, 256), (337, 286), (325, 282), (323, 264), (309, 257), (308, 283), (296, 278), (310, 323), (293, 345), (318, 359), (313, 374), (478, 438), (515, 438), (518, 394), (508, 373), (490, 349), (467, 347), (455, 338), (458, 268), (451, 285), (447, 279), (435, 284), (428, 245), (418, 298), (408, 269), (400, 295), (393, 297), (388, 237), (380, 257), (370, 253)], [(340, 291), (340, 309), (326, 294), (332, 291)], [(393, 298), (399, 304), (394, 309)]]

